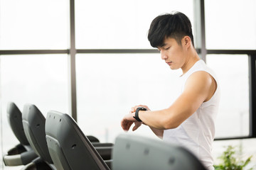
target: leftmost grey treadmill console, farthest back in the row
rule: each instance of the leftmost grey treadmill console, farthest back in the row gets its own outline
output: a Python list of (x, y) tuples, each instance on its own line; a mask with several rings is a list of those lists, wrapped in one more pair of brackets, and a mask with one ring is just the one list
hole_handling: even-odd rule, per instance
[(9, 149), (3, 156), (4, 164), (6, 166), (26, 165), (38, 156), (28, 143), (23, 130), (21, 111), (14, 102), (7, 104), (7, 120), (20, 143)]

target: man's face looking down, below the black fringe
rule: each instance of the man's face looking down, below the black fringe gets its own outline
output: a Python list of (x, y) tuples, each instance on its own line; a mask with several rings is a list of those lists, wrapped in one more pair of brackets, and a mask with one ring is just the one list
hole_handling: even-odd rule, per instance
[(185, 53), (183, 50), (183, 39), (181, 45), (174, 38), (166, 38), (161, 47), (157, 47), (161, 54), (161, 59), (169, 65), (171, 69), (179, 69), (185, 63)]

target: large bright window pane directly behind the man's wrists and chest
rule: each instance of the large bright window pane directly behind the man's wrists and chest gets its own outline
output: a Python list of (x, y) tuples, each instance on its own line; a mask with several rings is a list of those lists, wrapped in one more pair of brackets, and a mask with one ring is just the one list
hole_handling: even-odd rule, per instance
[[(77, 55), (78, 125), (101, 142), (114, 142), (132, 106), (168, 108), (181, 90), (159, 54)], [(178, 88), (178, 89), (177, 89)], [(154, 136), (146, 126), (135, 131)]]

